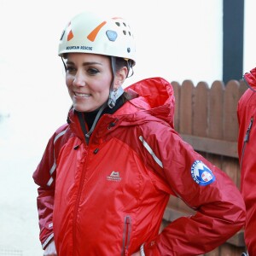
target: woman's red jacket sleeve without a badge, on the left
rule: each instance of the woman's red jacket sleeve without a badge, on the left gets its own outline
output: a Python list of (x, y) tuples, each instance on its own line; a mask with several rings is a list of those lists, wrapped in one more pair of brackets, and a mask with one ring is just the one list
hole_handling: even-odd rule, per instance
[(33, 173), (33, 179), (38, 184), (38, 218), (39, 218), (39, 239), (42, 247), (53, 238), (53, 209), (55, 198), (55, 169), (57, 155), (63, 144), (61, 138), (67, 130), (62, 126), (55, 134), (49, 138), (49, 142), (44, 150), (42, 160), (39, 162), (37, 169)]

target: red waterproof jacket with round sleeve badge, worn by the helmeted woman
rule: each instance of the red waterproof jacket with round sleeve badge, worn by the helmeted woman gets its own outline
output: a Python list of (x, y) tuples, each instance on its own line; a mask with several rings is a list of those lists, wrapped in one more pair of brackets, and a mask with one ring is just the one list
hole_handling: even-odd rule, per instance
[[(87, 144), (73, 110), (49, 139), (33, 174), (40, 240), (58, 255), (197, 255), (218, 247), (245, 221), (239, 190), (173, 130), (165, 79), (125, 90), (137, 97), (99, 119)], [(196, 211), (159, 234), (169, 196)], [(53, 235), (54, 234), (54, 235)]]

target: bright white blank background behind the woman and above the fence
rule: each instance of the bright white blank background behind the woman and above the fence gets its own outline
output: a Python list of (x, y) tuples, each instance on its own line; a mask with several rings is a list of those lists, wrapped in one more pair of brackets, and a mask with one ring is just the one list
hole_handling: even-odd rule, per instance
[[(244, 72), (255, 66), (256, 3), (245, 0)], [(0, 0), (0, 255), (42, 255), (32, 172), (71, 101), (57, 56), (73, 15), (90, 9), (130, 20), (135, 75), (208, 84), (222, 79), (221, 0)], [(2, 250), (2, 251), (1, 251)]]

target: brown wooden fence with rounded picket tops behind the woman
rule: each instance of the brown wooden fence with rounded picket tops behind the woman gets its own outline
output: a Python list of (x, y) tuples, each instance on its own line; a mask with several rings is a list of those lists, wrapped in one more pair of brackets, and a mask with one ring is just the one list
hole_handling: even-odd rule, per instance
[[(247, 85), (241, 80), (230, 80), (193, 84), (190, 80), (182, 84), (172, 82), (175, 95), (175, 129), (188, 142), (226, 172), (240, 188), (240, 168), (237, 154), (238, 123), (236, 108)], [(171, 197), (163, 218), (162, 227), (193, 211), (183, 201)], [(207, 256), (241, 256), (245, 252), (243, 230), (231, 237), (222, 246)]]

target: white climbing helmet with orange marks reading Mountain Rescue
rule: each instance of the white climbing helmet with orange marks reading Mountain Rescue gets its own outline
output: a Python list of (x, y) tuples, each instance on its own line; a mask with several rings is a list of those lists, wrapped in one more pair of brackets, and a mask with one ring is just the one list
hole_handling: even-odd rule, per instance
[(122, 18), (103, 18), (90, 12), (76, 15), (61, 34), (58, 55), (67, 53), (109, 55), (131, 60), (135, 65), (135, 40)]

